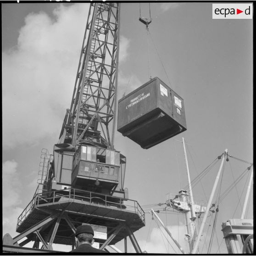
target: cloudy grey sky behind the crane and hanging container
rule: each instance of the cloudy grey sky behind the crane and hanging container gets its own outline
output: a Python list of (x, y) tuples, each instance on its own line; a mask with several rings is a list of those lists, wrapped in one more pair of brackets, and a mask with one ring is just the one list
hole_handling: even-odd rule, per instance
[[(14, 237), (17, 217), (37, 187), (41, 149), (53, 152), (70, 107), (89, 5), (2, 3), (1, 7), (3, 234)], [(184, 215), (157, 206), (165, 203), (167, 193), (175, 195), (188, 183), (182, 138), (188, 144), (191, 180), (225, 149), (231, 156), (253, 161), (252, 20), (212, 19), (211, 2), (159, 2), (150, 8), (153, 21), (147, 46), (139, 3), (121, 4), (117, 98), (147, 82), (150, 75), (157, 76), (184, 99), (187, 131), (148, 150), (116, 131), (115, 148), (127, 157), (124, 184), (129, 199), (145, 209), (146, 226), (134, 234), (141, 249), (178, 253), (152, 220), (148, 206), (160, 210), (159, 217), (186, 249)], [(141, 12), (149, 16), (147, 3), (141, 4)], [(217, 189), (220, 193), (250, 166), (229, 160)], [(195, 201), (207, 202), (219, 166), (220, 161), (193, 187)], [(219, 205), (212, 253), (219, 248), (227, 252), (221, 223), (240, 217), (249, 174)], [(252, 216), (251, 192), (245, 217)], [(210, 213), (206, 222), (213, 218)], [(211, 233), (208, 224), (207, 241), (200, 242), (203, 253)], [(117, 247), (123, 250), (123, 242)]]

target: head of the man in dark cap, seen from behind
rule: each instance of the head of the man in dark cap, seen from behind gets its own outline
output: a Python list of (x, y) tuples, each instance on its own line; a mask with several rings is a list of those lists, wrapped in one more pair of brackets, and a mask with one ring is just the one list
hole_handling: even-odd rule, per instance
[(75, 245), (78, 247), (82, 244), (90, 244), (94, 243), (94, 231), (90, 225), (81, 225), (78, 226), (75, 233)]

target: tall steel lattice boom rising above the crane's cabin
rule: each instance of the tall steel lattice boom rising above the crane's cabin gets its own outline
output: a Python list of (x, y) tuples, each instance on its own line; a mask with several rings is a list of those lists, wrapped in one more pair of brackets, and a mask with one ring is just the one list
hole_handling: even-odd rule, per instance
[[(92, 11), (92, 8), (95, 11)], [(60, 141), (114, 148), (120, 3), (93, 3)]]

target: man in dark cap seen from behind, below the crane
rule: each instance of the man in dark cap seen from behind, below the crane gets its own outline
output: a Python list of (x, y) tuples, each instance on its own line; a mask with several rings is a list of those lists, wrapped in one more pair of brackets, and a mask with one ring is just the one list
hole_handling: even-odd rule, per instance
[(94, 243), (94, 231), (90, 225), (78, 226), (75, 234), (76, 249), (71, 252), (91, 252), (91, 253), (106, 253), (105, 250), (99, 250), (92, 247)]

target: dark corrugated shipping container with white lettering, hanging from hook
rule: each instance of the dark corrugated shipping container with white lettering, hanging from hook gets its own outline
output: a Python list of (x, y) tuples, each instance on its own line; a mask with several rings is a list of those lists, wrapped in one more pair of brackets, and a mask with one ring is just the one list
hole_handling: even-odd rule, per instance
[(186, 129), (183, 99), (157, 77), (118, 100), (117, 131), (143, 149)]

